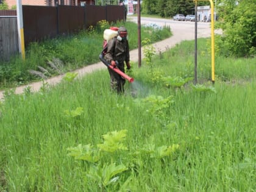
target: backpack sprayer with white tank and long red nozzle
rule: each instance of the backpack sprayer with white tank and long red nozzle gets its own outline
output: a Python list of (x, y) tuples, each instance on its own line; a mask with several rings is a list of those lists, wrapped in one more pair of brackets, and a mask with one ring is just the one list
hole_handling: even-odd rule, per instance
[(118, 62), (116, 61), (117, 67), (113, 67), (110, 65), (110, 63), (105, 60), (104, 55), (107, 52), (107, 42), (108, 40), (112, 39), (113, 37), (116, 37), (118, 35), (118, 27), (110, 27), (110, 29), (104, 30), (104, 43), (103, 43), (103, 51), (99, 55), (99, 59), (104, 63), (108, 68), (112, 69), (116, 73), (118, 73), (120, 76), (122, 76), (124, 79), (127, 79), (130, 83), (134, 81), (132, 77), (127, 76), (127, 74), (123, 73), (120, 69), (118, 69)]

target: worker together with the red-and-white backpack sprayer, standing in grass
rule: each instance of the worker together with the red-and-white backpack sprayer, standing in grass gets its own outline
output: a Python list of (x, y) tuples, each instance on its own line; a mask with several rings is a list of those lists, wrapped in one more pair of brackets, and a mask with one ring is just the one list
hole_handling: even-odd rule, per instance
[(126, 79), (133, 82), (133, 78), (124, 72), (124, 62), (130, 69), (130, 52), (126, 27), (110, 27), (104, 30), (103, 51), (99, 59), (108, 67), (110, 87), (117, 93), (124, 93)]

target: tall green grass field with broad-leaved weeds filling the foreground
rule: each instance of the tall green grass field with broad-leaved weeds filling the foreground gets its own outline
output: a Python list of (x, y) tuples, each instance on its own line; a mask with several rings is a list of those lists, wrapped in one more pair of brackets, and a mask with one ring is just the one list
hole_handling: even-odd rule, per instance
[(0, 191), (255, 191), (255, 58), (216, 57), (212, 85), (207, 41), (198, 85), (184, 41), (132, 63), (124, 95), (107, 69), (5, 93)]

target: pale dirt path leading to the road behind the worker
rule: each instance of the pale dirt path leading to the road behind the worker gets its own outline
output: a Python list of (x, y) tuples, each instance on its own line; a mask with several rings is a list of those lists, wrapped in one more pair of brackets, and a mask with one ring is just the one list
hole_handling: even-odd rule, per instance
[[(137, 17), (129, 17), (128, 20), (137, 23)], [(158, 26), (170, 26), (172, 31), (172, 37), (166, 40), (154, 43), (155, 50), (157, 52), (165, 52), (166, 49), (174, 47), (177, 43), (183, 40), (193, 40), (194, 39), (194, 22), (190, 21), (173, 21), (167, 19), (155, 19), (155, 18), (141, 18), (141, 25), (143, 24), (157, 24)], [(210, 37), (210, 23), (197, 23), (197, 37)], [(138, 61), (138, 49), (130, 51), (130, 59), (132, 62)], [(143, 59), (143, 48), (141, 48), (141, 59)], [(85, 74), (92, 73), (97, 69), (107, 68), (102, 62), (95, 63), (93, 65), (85, 66), (84, 68), (77, 69), (76, 73), (78, 76), (84, 76)], [(62, 80), (63, 75), (51, 77), (45, 80), (49, 85), (58, 84)], [(38, 91), (43, 85), (43, 82), (35, 82), (29, 85), (23, 85), (15, 88), (16, 94), (23, 93), (24, 88), (31, 87), (32, 91)], [(0, 100), (4, 98), (4, 91), (0, 91)]]

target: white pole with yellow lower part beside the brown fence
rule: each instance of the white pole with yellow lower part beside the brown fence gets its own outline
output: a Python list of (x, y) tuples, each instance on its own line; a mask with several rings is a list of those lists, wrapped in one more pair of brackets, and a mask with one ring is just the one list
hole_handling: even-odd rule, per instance
[(23, 59), (25, 59), (25, 45), (24, 45), (24, 29), (23, 29), (23, 12), (21, 0), (16, 0), (17, 10), (17, 24), (18, 24), (18, 40), (19, 40), (19, 52)]

